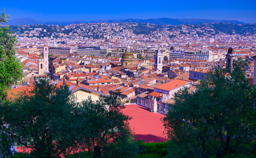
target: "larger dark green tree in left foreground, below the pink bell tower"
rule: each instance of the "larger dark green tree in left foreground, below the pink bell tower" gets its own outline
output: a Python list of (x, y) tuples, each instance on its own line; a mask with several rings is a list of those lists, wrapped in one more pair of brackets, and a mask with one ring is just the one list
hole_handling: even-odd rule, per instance
[(5, 107), (6, 132), (15, 144), (36, 157), (69, 155), (74, 142), (76, 99), (67, 86), (56, 87), (41, 78), (14, 103)]

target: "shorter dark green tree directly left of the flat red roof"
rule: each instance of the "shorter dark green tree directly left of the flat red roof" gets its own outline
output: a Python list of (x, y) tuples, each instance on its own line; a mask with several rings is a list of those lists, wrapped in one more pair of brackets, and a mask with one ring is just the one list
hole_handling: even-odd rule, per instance
[(128, 154), (127, 157), (133, 155), (132, 131), (128, 123), (131, 118), (121, 112), (124, 103), (115, 93), (101, 96), (95, 102), (88, 98), (81, 103), (76, 117), (77, 141), (83, 149), (88, 149), (89, 155), (100, 157), (101, 151), (106, 157), (115, 152), (123, 156)]

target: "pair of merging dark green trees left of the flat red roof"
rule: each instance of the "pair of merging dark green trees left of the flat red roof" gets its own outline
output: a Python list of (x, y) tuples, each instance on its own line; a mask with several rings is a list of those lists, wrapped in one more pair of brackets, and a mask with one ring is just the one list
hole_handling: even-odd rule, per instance
[(16, 145), (31, 148), (34, 157), (67, 157), (86, 150), (77, 155), (135, 157), (138, 147), (128, 123), (131, 118), (121, 112), (124, 103), (118, 93), (76, 103), (67, 86), (41, 78), (31, 91), (5, 106), (5, 131)]

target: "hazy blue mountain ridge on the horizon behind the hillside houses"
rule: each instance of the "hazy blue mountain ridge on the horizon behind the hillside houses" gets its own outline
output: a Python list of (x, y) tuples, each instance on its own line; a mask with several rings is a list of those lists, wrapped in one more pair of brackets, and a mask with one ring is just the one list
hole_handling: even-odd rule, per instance
[(95, 20), (95, 21), (38, 21), (31, 18), (17, 18), (8, 21), (8, 25), (70, 25), (79, 23), (90, 22), (138, 22), (138, 23), (151, 23), (158, 25), (182, 25), (182, 24), (205, 24), (205, 23), (228, 23), (228, 24), (244, 24), (244, 22), (237, 20), (209, 20), (209, 19), (173, 19), (173, 18), (152, 18), (152, 19), (108, 19), (108, 20)]

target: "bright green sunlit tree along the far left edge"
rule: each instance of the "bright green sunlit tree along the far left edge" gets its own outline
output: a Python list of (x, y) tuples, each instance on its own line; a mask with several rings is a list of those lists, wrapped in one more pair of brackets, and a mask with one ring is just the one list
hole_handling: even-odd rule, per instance
[[(0, 24), (5, 24), (10, 15), (3, 13), (0, 15)], [(6, 100), (7, 90), (10, 85), (22, 78), (22, 66), (15, 57), (16, 39), (13, 37), (8, 27), (0, 27), (0, 156), (10, 154), (11, 142), (4, 131), (3, 106), (8, 104)]]

